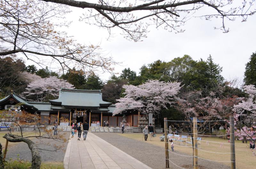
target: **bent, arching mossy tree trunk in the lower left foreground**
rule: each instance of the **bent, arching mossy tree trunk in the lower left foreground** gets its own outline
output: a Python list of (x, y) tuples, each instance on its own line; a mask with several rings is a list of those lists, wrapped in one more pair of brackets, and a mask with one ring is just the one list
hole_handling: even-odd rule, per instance
[(41, 156), (37, 150), (36, 144), (33, 141), (31, 141), (29, 138), (14, 136), (12, 134), (5, 134), (4, 138), (10, 142), (25, 142), (25, 143), (27, 143), (28, 147), (31, 151), (31, 155), (32, 155), (31, 168), (40, 169)]

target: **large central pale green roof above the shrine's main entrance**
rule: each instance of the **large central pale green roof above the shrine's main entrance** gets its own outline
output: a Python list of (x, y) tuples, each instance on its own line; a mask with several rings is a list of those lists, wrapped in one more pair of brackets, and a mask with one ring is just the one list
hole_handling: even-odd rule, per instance
[(100, 105), (111, 105), (110, 102), (102, 100), (101, 90), (79, 90), (64, 89), (60, 90), (58, 99), (50, 100), (52, 103), (60, 103), (67, 107), (100, 107)]

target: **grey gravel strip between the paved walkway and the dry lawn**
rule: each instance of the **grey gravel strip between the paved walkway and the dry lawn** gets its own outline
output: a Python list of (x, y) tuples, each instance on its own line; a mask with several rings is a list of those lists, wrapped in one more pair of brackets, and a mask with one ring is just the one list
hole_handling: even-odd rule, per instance
[[(108, 143), (116, 146), (120, 150), (126, 152), (127, 154), (131, 155), (132, 157), (140, 160), (144, 164), (148, 165), (151, 168), (156, 169), (163, 169), (165, 168), (165, 153), (163, 147), (159, 147), (156, 145), (148, 144), (146, 142), (141, 142), (137, 140), (133, 140), (127, 137), (123, 137), (118, 135), (117, 133), (93, 133), (96, 136), (102, 138), (103, 140), (107, 141)], [(179, 151), (174, 151), (174, 153), (187, 155), (181, 153)], [(183, 168), (193, 168), (192, 164), (192, 157), (184, 157), (180, 155), (176, 155), (173, 153), (169, 153), (169, 157), (176, 165), (179, 165)], [(198, 160), (199, 161), (199, 168), (221, 168), (226, 169), (230, 168), (226, 165), (212, 162), (212, 161), (205, 161), (205, 160)], [(170, 162), (170, 168), (179, 168)]]

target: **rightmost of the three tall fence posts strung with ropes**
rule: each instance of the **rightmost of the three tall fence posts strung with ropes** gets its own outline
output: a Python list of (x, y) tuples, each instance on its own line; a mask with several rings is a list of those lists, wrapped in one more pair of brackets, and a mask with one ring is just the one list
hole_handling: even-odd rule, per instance
[(231, 160), (231, 169), (236, 169), (234, 116), (229, 116), (229, 120), (230, 120), (230, 160)]

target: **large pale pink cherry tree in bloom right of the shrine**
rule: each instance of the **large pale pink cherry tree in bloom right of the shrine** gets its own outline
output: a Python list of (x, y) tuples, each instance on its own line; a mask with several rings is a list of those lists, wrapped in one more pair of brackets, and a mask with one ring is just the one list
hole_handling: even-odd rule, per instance
[(179, 82), (149, 80), (139, 86), (124, 85), (123, 88), (125, 96), (116, 100), (118, 103), (113, 116), (128, 109), (156, 116), (162, 108), (167, 109), (175, 102), (181, 86)]

